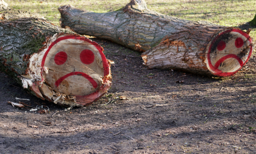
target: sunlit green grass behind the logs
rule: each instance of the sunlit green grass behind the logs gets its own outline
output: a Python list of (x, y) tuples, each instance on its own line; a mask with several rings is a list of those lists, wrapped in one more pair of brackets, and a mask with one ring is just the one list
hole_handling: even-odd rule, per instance
[[(58, 7), (75, 7), (102, 13), (125, 6), (130, 0), (5, 0), (9, 7), (37, 12), (59, 25)], [(206, 20), (223, 26), (246, 25), (256, 13), (256, 0), (146, 0), (148, 8), (187, 20)], [(250, 35), (256, 38), (254, 27)]]

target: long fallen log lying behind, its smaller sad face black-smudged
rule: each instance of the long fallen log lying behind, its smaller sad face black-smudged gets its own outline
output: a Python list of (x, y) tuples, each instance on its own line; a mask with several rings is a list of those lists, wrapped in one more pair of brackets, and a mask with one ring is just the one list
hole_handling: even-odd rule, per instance
[[(107, 13), (59, 7), (60, 24), (79, 34), (109, 39), (137, 51), (149, 68), (176, 68), (192, 73), (230, 76), (241, 69), (254, 49), (241, 29), (204, 21), (188, 21), (147, 8), (131, 0)], [(144, 52), (146, 51), (146, 52)]]

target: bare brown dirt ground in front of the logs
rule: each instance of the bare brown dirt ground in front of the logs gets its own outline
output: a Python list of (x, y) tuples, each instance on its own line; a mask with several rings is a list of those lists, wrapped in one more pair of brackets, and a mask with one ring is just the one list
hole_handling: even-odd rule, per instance
[[(90, 106), (56, 106), (0, 73), (0, 154), (256, 153), (255, 55), (233, 77), (203, 77), (146, 70), (139, 52), (92, 40), (116, 64), (112, 88)], [(44, 105), (49, 113), (7, 101)]]

